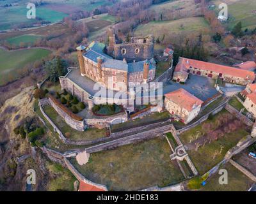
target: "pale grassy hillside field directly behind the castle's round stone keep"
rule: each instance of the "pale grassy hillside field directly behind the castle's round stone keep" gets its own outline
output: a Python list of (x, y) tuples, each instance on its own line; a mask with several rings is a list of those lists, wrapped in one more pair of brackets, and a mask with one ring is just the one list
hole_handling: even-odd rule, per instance
[[(161, 31), (159, 33), (159, 31)], [(162, 38), (163, 34), (179, 35), (180, 33), (209, 32), (209, 25), (203, 17), (182, 18), (179, 20), (152, 21), (141, 24), (135, 30), (136, 35), (154, 34), (156, 38)]]

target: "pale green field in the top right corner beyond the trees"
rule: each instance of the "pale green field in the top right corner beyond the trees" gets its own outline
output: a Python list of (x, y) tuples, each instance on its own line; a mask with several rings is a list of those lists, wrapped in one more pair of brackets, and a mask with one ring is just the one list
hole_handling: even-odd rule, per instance
[(228, 28), (232, 29), (237, 22), (242, 22), (243, 29), (256, 27), (256, 1), (255, 0), (218, 0), (214, 4), (228, 4)]

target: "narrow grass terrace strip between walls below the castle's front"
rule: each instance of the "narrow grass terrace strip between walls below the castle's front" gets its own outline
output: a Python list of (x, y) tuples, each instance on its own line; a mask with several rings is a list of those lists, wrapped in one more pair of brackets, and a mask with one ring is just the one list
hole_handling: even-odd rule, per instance
[(115, 124), (111, 126), (111, 131), (118, 132), (124, 129), (136, 128), (139, 126), (145, 126), (147, 124), (166, 121), (168, 119), (170, 119), (170, 114), (168, 112), (163, 112), (163, 113), (156, 112), (156, 113), (152, 113), (151, 115), (147, 115), (143, 117), (143, 119), (139, 118), (135, 120), (129, 120), (127, 122), (123, 122), (120, 124)]

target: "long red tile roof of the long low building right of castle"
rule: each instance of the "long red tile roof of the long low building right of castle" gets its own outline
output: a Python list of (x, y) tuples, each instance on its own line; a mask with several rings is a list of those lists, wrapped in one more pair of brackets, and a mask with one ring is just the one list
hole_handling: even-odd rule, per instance
[[(189, 66), (192, 66), (193, 68), (198, 68), (202, 70), (207, 71), (214, 71), (216, 73), (223, 73), (223, 75), (230, 75), (233, 77), (241, 77), (244, 79), (250, 79), (252, 81), (255, 80), (255, 73), (253, 71), (248, 71), (244, 69), (239, 68), (233, 68), (230, 66), (224, 66), (220, 64), (214, 64), (210, 62), (203, 62), (198, 61), (195, 59), (188, 59), (184, 57), (180, 57), (180, 60), (182, 61), (182, 67), (184, 66), (186, 69), (189, 69)], [(179, 70), (179, 68), (178, 68)], [(177, 71), (178, 71), (177, 70)]]

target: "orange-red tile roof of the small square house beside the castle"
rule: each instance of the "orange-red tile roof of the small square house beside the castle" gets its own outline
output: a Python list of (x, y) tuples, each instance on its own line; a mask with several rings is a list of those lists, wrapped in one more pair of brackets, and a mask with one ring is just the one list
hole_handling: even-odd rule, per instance
[(166, 96), (166, 98), (170, 99), (180, 107), (185, 108), (189, 112), (193, 110), (193, 105), (196, 104), (198, 106), (204, 103), (204, 101), (201, 101), (200, 99), (196, 98), (185, 89), (178, 89), (176, 91), (169, 92), (164, 96)]

